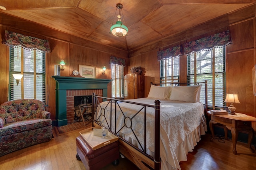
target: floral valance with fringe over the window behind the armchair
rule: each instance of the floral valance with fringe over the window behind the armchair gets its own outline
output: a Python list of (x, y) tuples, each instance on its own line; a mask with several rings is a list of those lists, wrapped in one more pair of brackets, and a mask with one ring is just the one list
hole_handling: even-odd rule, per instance
[(5, 37), (3, 44), (11, 47), (22, 47), (24, 49), (38, 50), (46, 53), (50, 53), (50, 45), (48, 40), (39, 39), (36, 37), (22, 35), (20, 33), (14, 33), (12, 31), (5, 30)]

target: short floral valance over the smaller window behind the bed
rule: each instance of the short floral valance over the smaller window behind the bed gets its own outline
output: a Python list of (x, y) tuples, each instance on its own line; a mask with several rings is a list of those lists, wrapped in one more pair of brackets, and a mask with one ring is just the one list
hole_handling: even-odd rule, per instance
[(164, 49), (157, 52), (157, 61), (161, 61), (163, 59), (176, 58), (182, 55), (180, 51), (180, 46), (170, 47), (168, 49)]

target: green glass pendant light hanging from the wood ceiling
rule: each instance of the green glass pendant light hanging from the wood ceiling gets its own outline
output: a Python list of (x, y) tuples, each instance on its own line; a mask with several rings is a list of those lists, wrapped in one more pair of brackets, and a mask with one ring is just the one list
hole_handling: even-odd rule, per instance
[(120, 10), (123, 8), (123, 5), (116, 4), (116, 8), (119, 9), (119, 15), (117, 16), (118, 20), (116, 21), (116, 24), (110, 27), (110, 33), (116, 37), (123, 37), (128, 33), (128, 27), (126, 27), (121, 21), (122, 17)]

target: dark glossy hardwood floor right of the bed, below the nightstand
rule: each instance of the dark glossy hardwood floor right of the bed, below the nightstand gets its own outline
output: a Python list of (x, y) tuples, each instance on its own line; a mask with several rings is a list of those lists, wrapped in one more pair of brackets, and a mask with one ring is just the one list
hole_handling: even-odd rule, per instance
[(256, 169), (256, 154), (249, 151), (247, 144), (238, 142), (237, 155), (232, 152), (232, 141), (218, 139), (210, 142), (210, 134), (202, 135), (202, 140), (193, 152), (188, 153), (188, 161), (180, 162), (181, 169), (188, 170), (253, 170)]

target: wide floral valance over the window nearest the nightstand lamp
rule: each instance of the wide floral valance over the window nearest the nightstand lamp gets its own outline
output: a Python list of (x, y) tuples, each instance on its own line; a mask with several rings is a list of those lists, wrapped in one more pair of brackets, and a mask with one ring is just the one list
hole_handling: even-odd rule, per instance
[(184, 44), (184, 55), (190, 53), (197, 53), (199, 51), (211, 50), (215, 46), (223, 46), (232, 44), (229, 31), (223, 31), (222, 33), (217, 33), (208, 37), (204, 37), (198, 40), (190, 41)]

